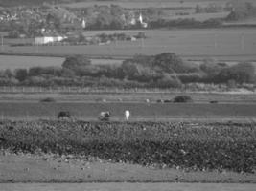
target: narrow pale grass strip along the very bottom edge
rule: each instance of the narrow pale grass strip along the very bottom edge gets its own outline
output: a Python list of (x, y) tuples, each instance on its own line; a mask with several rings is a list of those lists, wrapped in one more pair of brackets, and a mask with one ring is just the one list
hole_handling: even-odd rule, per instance
[(34, 191), (34, 190), (56, 190), (56, 191), (254, 191), (254, 184), (249, 183), (7, 183), (2, 184), (4, 190)]

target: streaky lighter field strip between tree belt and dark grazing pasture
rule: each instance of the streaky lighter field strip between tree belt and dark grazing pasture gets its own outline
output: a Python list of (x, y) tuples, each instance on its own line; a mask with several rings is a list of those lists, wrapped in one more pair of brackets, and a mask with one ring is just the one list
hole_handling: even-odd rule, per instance
[(254, 104), (256, 96), (252, 92), (227, 92), (227, 93), (200, 93), (200, 92), (175, 92), (172, 90), (137, 90), (137, 92), (122, 90), (105, 90), (97, 91), (95, 89), (62, 89), (49, 90), (42, 88), (30, 87), (0, 87), (0, 102), (39, 102), (40, 100), (50, 97), (57, 102), (84, 102), (84, 103), (145, 103), (149, 99), (155, 103), (157, 99), (170, 100), (175, 96), (191, 96), (195, 103), (209, 103), (216, 100), (219, 103), (235, 104)]

